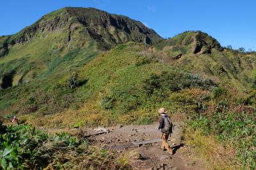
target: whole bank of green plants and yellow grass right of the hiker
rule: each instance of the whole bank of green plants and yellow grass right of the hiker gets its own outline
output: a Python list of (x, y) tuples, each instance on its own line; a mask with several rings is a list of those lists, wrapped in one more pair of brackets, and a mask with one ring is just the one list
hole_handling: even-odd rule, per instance
[(250, 105), (252, 102), (249, 100), (248, 94), (237, 93), (234, 89), (216, 88), (211, 98), (206, 100), (208, 102), (202, 104), (205, 109), (188, 121), (186, 137), (198, 149), (198, 153), (204, 155), (202, 157), (209, 159), (210, 165), (221, 163), (218, 157), (212, 157), (218, 153), (217, 156), (222, 155), (221, 159), (224, 160), (218, 169), (231, 164), (234, 165), (232, 168), (239, 169), (256, 167), (256, 115), (254, 103)]

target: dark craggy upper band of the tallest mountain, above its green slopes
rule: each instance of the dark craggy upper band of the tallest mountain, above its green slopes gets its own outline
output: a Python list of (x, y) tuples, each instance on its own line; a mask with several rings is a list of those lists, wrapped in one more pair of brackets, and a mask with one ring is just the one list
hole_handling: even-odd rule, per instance
[(82, 42), (79, 44), (84, 44), (83, 41), (90, 37), (99, 43), (100, 50), (109, 50), (113, 45), (128, 41), (151, 44), (161, 40), (154, 30), (122, 15), (109, 14), (95, 8), (63, 8), (45, 15), (16, 35), (0, 37), (0, 58), (8, 54), (12, 45), (30, 42), (36, 36), (47, 36), (49, 31), (69, 32), (67, 42), (78, 31), (76, 35), (81, 37), (79, 42)]

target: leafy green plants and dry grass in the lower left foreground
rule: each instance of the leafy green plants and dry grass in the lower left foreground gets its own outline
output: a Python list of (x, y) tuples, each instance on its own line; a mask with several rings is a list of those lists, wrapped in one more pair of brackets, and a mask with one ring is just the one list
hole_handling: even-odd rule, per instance
[(2, 123), (0, 129), (3, 169), (129, 169), (120, 161), (123, 158), (64, 132), (49, 135), (30, 125), (3, 127)]

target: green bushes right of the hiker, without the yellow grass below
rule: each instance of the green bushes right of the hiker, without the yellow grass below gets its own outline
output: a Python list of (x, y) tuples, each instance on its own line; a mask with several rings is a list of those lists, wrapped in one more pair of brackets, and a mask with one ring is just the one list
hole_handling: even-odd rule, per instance
[[(248, 102), (248, 94), (241, 95), (227, 88), (216, 88), (212, 97), (205, 100), (202, 107), (207, 109), (188, 121), (188, 128), (202, 135), (214, 135), (223, 146), (231, 144), (237, 150), (241, 161), (239, 166), (254, 169), (256, 166), (255, 102)], [(255, 97), (255, 92), (249, 98)], [(250, 100), (250, 99), (249, 99)], [(202, 147), (200, 145), (198, 148)]]

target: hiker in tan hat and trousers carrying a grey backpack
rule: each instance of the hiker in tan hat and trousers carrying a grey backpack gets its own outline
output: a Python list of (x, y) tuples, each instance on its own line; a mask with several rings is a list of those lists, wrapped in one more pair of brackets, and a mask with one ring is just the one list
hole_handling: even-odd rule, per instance
[(166, 109), (160, 108), (158, 112), (160, 113), (158, 130), (161, 130), (161, 132), (162, 132), (161, 149), (163, 151), (164, 151), (164, 149), (166, 149), (168, 151), (168, 153), (173, 155), (172, 148), (170, 147), (170, 145), (167, 142), (169, 135), (172, 134), (172, 128), (173, 128), (172, 121), (170, 120), (170, 117), (166, 114)]

